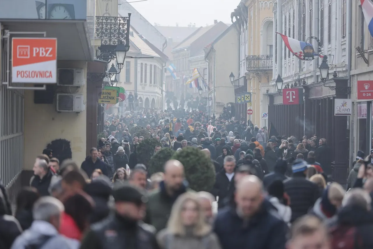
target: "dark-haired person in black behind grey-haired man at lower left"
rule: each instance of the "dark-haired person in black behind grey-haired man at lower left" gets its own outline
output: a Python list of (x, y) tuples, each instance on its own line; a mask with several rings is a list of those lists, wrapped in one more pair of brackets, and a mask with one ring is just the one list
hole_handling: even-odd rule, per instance
[(23, 187), (21, 192), (17, 196), (17, 211), (16, 219), (22, 227), (22, 230), (26, 230), (31, 227), (32, 221), (32, 207), (34, 203), (39, 199), (40, 194), (38, 190), (33, 187)]

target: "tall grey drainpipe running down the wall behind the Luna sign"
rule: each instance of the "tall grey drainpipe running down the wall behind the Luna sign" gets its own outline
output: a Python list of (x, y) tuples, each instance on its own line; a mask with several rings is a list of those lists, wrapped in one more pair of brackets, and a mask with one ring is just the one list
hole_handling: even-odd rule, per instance
[[(346, 43), (346, 46), (347, 46), (347, 78), (348, 78), (348, 81), (347, 81), (347, 86), (348, 87), (351, 87), (351, 64), (352, 64), (352, 0), (348, 0), (348, 7), (346, 6), (346, 9), (348, 10), (347, 12), (347, 16), (348, 16), (348, 21), (347, 21), (347, 24), (348, 25), (348, 29), (347, 29), (347, 32), (348, 32), (348, 36), (347, 36), (347, 43)], [(347, 95), (347, 99), (351, 99), (351, 94), (348, 94)], [(355, 108), (354, 108), (355, 109)], [(353, 109), (353, 110), (354, 110)], [(371, 112), (367, 112), (367, 113), (371, 113)], [(347, 131), (350, 130), (350, 138), (353, 137), (353, 134), (354, 134), (354, 127), (352, 126), (351, 128), (351, 117), (354, 118), (355, 115), (351, 115), (350, 116), (350, 120), (348, 120), (348, 117), (347, 117)], [(368, 118), (368, 116), (367, 116)], [(347, 132), (346, 132), (347, 133)], [(350, 140), (350, 148), (354, 148), (354, 143), (352, 141), (352, 139), (349, 139)], [(350, 149), (350, 162), (354, 161), (354, 150), (351, 150)]]

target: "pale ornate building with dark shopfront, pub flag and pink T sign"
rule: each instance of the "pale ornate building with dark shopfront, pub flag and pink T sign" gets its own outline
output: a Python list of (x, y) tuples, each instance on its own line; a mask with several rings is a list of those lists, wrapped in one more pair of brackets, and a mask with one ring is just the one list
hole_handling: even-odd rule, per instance
[[(326, 138), (332, 150), (333, 179), (343, 183), (347, 179), (350, 126), (348, 116), (335, 116), (335, 99), (348, 99), (352, 53), (347, 22), (346, 1), (293, 1), (277, 0), (274, 5), (275, 30), (299, 41), (311, 43), (320, 56), (314, 60), (300, 60), (285, 46), (282, 37), (276, 35), (273, 46), (273, 82), (280, 75), (286, 94), (298, 93), (300, 102), (288, 103), (289, 95), (269, 94), (269, 121), (280, 135)], [(317, 39), (313, 38), (316, 37)], [(329, 76), (326, 82), (320, 78), (319, 66), (327, 56)], [(326, 58), (326, 57), (325, 57)], [(335, 86), (338, 87), (335, 87)], [(300, 94), (302, 93), (302, 94)], [(285, 97), (284, 97), (285, 96)], [(286, 102), (286, 105), (284, 103)], [(293, 103), (291, 103), (293, 104)]]

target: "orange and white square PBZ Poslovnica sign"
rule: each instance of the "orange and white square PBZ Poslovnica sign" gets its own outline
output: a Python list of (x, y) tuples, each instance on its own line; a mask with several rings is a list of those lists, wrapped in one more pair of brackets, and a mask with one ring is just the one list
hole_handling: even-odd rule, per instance
[(12, 82), (56, 83), (57, 38), (12, 38)]

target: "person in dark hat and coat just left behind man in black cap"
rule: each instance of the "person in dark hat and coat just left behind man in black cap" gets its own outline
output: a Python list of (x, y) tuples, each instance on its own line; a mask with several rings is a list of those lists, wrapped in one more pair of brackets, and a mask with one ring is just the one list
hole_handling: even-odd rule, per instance
[(112, 193), (110, 179), (101, 175), (90, 184), (85, 185), (84, 192), (89, 194), (95, 202), (90, 223), (93, 224), (108, 217), (110, 214), (108, 203)]

